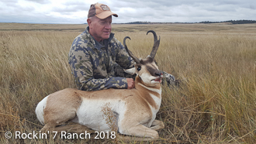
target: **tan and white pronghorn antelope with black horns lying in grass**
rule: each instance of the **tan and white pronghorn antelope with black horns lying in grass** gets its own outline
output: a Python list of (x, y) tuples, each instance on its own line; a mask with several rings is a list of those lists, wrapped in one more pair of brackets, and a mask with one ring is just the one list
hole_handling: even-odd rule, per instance
[(157, 129), (163, 129), (164, 123), (155, 120), (161, 105), (161, 79), (163, 75), (154, 62), (160, 44), (160, 37), (154, 31), (154, 46), (150, 55), (138, 59), (126, 46), (127, 53), (136, 62), (135, 67), (126, 73), (137, 74), (133, 89), (107, 89), (102, 91), (79, 91), (67, 88), (43, 98), (36, 106), (36, 116), (44, 125), (42, 130), (55, 128), (71, 121), (85, 125), (100, 132), (109, 132), (102, 112), (102, 107), (109, 104), (115, 115), (118, 132), (123, 135), (135, 135), (157, 139)]

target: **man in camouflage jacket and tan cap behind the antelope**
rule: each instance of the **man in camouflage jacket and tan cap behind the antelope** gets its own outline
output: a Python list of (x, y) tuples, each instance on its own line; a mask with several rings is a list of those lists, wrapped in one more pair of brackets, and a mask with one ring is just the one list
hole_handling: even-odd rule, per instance
[[(72, 43), (68, 63), (83, 91), (134, 87), (133, 78), (123, 69), (134, 67), (133, 59), (111, 33), (112, 15), (107, 5), (96, 3), (88, 11), (88, 27)], [(175, 77), (164, 72), (170, 84)]]

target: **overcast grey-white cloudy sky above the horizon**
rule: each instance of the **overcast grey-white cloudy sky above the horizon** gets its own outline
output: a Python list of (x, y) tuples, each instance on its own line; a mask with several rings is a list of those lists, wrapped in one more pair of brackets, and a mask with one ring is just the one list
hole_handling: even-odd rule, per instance
[(1, 0), (0, 22), (86, 23), (96, 2), (119, 15), (113, 23), (256, 20), (255, 0)]

